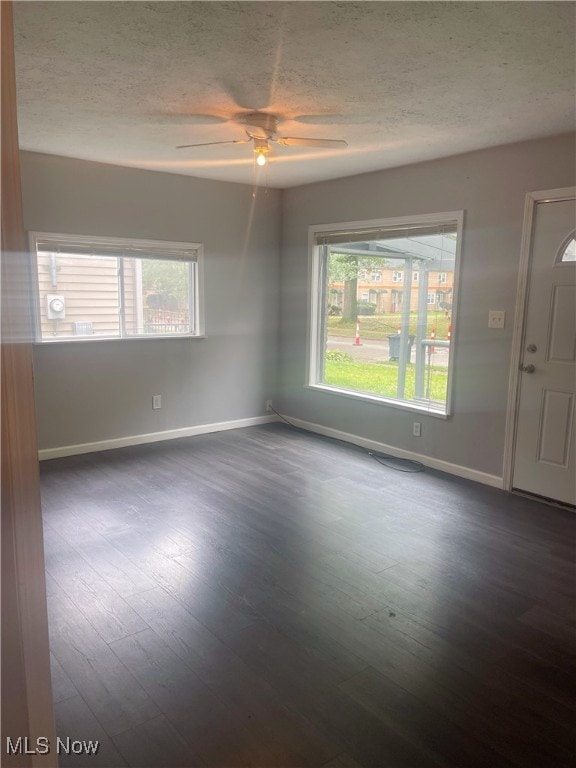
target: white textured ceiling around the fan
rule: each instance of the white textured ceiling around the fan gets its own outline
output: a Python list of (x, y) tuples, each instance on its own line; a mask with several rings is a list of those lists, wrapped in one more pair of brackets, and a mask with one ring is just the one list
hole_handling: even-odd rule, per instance
[(574, 130), (572, 2), (15, 2), (23, 149), (289, 187)]

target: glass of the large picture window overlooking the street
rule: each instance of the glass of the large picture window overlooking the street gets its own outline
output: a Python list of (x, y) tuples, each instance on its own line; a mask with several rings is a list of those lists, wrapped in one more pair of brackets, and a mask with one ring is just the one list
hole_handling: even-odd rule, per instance
[[(448, 225), (318, 246), (318, 383), (446, 412), (456, 241)], [(365, 270), (380, 275), (369, 296), (358, 283)]]

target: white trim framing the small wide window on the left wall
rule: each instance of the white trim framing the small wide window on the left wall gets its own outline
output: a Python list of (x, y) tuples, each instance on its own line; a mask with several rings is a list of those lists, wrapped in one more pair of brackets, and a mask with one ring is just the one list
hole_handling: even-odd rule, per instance
[[(130, 249), (154, 249), (162, 251), (163, 249), (169, 251), (195, 251), (196, 258), (196, 277), (191, 286), (193, 290), (193, 327), (196, 329), (195, 333), (166, 333), (166, 334), (142, 334), (142, 335), (130, 335), (130, 336), (66, 336), (63, 338), (55, 339), (43, 339), (42, 331), (40, 327), (40, 292), (38, 290), (38, 242), (43, 239), (60, 240), (62, 243), (66, 241), (75, 243), (77, 245), (84, 245), (91, 247), (94, 245), (102, 245), (104, 247), (119, 247)], [(34, 313), (34, 329), (35, 339), (34, 343), (38, 345), (44, 344), (93, 344), (104, 341), (141, 341), (143, 339), (203, 339), (206, 337), (204, 327), (204, 246), (202, 243), (183, 243), (172, 240), (143, 240), (141, 238), (131, 237), (102, 237), (101, 235), (71, 235), (69, 233), (62, 232), (28, 232), (29, 249), (31, 254), (32, 269), (31, 278), (33, 281), (33, 302), (32, 309)], [(128, 254), (129, 256), (130, 254)], [(134, 254), (137, 256), (137, 254)]]

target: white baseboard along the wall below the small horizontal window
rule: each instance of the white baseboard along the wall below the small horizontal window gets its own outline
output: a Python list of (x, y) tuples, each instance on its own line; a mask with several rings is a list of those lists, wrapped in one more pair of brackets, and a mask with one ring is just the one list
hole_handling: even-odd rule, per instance
[(253, 427), (256, 424), (269, 424), (272, 421), (278, 420), (278, 416), (275, 415), (254, 416), (250, 419), (219, 421), (215, 424), (200, 424), (197, 427), (183, 427), (182, 429), (167, 429), (164, 432), (148, 432), (144, 435), (116, 437), (112, 440), (99, 440), (96, 443), (78, 443), (77, 445), (63, 445), (59, 448), (42, 448), (38, 451), (38, 458), (40, 461), (45, 461), (46, 459), (59, 459), (63, 456), (76, 456), (80, 453), (96, 453), (97, 451), (109, 451), (113, 448), (126, 448), (128, 445), (157, 443), (161, 440), (176, 440), (179, 437), (205, 435), (209, 432), (223, 432), (226, 429)]

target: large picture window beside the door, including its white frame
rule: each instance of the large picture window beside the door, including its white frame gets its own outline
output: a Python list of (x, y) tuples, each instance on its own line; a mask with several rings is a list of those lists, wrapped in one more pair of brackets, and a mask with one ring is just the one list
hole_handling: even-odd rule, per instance
[[(439, 416), (450, 413), (462, 218), (456, 212), (310, 228), (308, 386)], [(402, 285), (380, 292), (374, 313), (360, 324), (363, 343), (351, 343), (342, 355), (342, 337), (355, 338), (359, 303), (366, 301), (355, 280), (361, 269), (389, 270)], [(451, 291), (443, 307), (429, 287), (438, 272), (446, 275)], [(343, 291), (342, 313), (330, 316), (327, 299), (335, 288)]]

